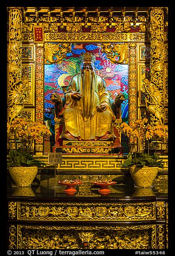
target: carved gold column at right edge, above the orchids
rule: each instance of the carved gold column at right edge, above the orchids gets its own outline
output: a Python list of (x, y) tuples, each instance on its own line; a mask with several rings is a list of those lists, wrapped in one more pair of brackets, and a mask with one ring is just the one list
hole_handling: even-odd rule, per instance
[(145, 80), (145, 103), (151, 124), (164, 123), (164, 10), (150, 12), (150, 80)]

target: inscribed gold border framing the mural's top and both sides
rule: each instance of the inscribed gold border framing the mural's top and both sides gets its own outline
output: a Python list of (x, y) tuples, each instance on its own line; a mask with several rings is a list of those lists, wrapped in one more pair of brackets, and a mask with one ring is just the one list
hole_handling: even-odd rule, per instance
[[(23, 33), (23, 38), (25, 38), (25, 34)], [(27, 38), (30, 36), (27, 35)], [(31, 38), (31, 37), (30, 37)], [(131, 44), (130, 40), (134, 40), (134, 43)], [(130, 51), (132, 57), (130, 61), (128, 61), (129, 69), (130, 65), (132, 65), (131, 70), (129, 70), (130, 74), (129, 77), (129, 84), (132, 84), (132, 101), (129, 101), (129, 117), (128, 119), (131, 121), (135, 121), (137, 118), (137, 86), (136, 86), (136, 78), (137, 78), (137, 70), (136, 70), (136, 60), (137, 60), (137, 43), (136, 42), (144, 42), (145, 41), (145, 34), (144, 33), (45, 33), (45, 42), (57, 42), (61, 44), (70, 44), (71, 42), (98, 42), (98, 43), (116, 43), (121, 42), (128, 44), (128, 53)], [(68, 47), (69, 48), (69, 47)], [(44, 74), (43, 74), (43, 67), (42, 70), (39, 70), (40, 64), (44, 65), (46, 57), (45, 57), (45, 44), (37, 44), (36, 47), (36, 92), (40, 91), (43, 93), (44, 90)], [(38, 63), (38, 59), (42, 58), (42, 63)], [(133, 62), (134, 59), (134, 62)], [(43, 87), (41, 88), (41, 84)], [(130, 89), (129, 89), (130, 90)], [(40, 95), (39, 95), (40, 97)], [(42, 122), (43, 120), (43, 112), (41, 111), (44, 108), (44, 101), (38, 102), (38, 95), (36, 94), (36, 112), (35, 118), (38, 122)], [(132, 125), (133, 122), (130, 122)], [(43, 151), (42, 141), (38, 141), (35, 146), (36, 151), (40, 154)]]

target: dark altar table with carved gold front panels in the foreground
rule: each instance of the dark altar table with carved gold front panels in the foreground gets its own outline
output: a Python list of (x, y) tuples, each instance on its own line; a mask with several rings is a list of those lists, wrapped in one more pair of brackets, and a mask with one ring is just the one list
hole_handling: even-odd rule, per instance
[[(56, 181), (74, 177), (58, 175)], [(134, 188), (129, 179), (126, 185), (121, 177), (110, 177), (117, 183), (109, 186), (107, 196), (92, 186), (99, 175), (79, 176), (83, 183), (72, 196), (63, 191), (65, 186), (54, 188), (52, 176), (42, 179), (40, 186), (10, 188), (9, 249), (166, 250), (167, 184), (161, 175), (146, 189)]]

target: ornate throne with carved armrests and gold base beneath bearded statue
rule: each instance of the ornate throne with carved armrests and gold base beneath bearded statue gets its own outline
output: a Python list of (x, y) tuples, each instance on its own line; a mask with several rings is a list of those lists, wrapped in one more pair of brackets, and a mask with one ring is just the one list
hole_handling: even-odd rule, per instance
[[(65, 93), (66, 88), (63, 88)], [(121, 103), (125, 100), (123, 94), (118, 94), (114, 100), (111, 100), (111, 107), (116, 117), (112, 122), (114, 139), (112, 140), (77, 140), (77, 139), (65, 139), (62, 138), (62, 130), (64, 120), (61, 115), (61, 111), (64, 108), (64, 98), (54, 93), (50, 99), (54, 103), (55, 108), (55, 145), (53, 146), (53, 152), (62, 152), (70, 154), (123, 154), (123, 148), (121, 146), (121, 134), (117, 129), (117, 126), (122, 122), (121, 119)]]

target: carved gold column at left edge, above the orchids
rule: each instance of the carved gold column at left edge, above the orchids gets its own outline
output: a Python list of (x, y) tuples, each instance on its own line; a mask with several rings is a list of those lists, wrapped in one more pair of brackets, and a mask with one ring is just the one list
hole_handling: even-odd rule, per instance
[[(9, 7), (9, 47), (8, 47), (8, 116), (19, 101), (19, 86), (22, 70), (22, 11), (21, 7)], [(17, 96), (16, 96), (17, 95)]]

